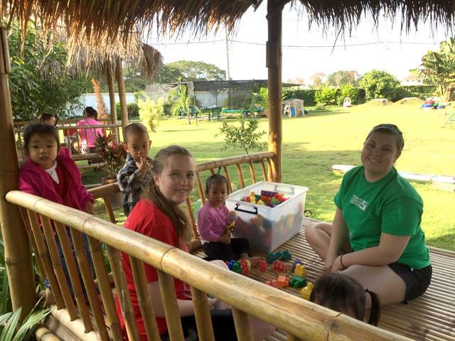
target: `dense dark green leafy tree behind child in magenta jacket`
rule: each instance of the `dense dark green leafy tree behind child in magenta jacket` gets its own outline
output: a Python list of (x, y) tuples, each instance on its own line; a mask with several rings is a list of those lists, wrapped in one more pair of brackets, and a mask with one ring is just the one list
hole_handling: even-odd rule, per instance
[(21, 34), (16, 25), (11, 26), (9, 84), (14, 119), (29, 120), (45, 112), (67, 117), (82, 107), (79, 98), (87, 81), (66, 72), (66, 44), (50, 44), (48, 37), (31, 24), (23, 41)]

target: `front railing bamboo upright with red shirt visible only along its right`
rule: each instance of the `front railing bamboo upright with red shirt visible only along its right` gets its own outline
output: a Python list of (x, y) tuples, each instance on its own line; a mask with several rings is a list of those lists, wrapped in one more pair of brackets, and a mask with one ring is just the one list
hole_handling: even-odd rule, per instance
[(112, 298), (111, 285), (107, 276), (105, 257), (102, 253), (101, 243), (92, 237), (87, 236), (87, 242), (92, 254), (93, 267), (97, 276), (98, 287), (100, 288), (102, 303), (105, 307), (107, 324), (112, 332), (114, 341), (122, 341), (122, 328), (120, 327), (119, 317), (115, 309), (114, 298)]

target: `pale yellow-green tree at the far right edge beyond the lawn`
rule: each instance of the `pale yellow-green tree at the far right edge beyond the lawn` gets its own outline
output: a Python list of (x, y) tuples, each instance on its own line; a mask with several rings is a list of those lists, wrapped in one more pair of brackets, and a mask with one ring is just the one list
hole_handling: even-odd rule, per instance
[(429, 50), (422, 57), (420, 68), (414, 71), (422, 75), (424, 82), (434, 85), (442, 97), (455, 82), (455, 39), (441, 41), (437, 52)]

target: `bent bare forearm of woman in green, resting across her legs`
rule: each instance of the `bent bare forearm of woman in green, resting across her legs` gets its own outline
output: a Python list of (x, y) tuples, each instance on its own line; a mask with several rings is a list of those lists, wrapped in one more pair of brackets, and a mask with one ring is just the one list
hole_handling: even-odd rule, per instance
[[(341, 271), (351, 265), (386, 266), (394, 263), (400, 256), (409, 242), (410, 236), (394, 236), (382, 232), (377, 247), (369, 247), (360, 251), (344, 254), (343, 259), (338, 256), (333, 262), (332, 271)], [(341, 265), (343, 261), (343, 265)]]

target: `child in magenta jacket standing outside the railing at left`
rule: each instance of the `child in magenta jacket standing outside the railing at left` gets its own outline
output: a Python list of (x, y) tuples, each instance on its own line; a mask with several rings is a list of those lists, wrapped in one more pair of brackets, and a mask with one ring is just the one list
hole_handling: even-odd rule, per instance
[[(93, 195), (82, 185), (79, 168), (70, 157), (68, 148), (60, 148), (55, 127), (43, 123), (30, 124), (23, 132), (23, 143), (27, 158), (19, 173), (19, 190), (93, 214)], [(69, 282), (58, 238), (56, 242)], [(84, 242), (86, 244), (85, 239)], [(90, 254), (87, 257), (91, 264)], [(49, 288), (47, 281), (45, 284)], [(48, 291), (48, 299), (49, 294)]]

